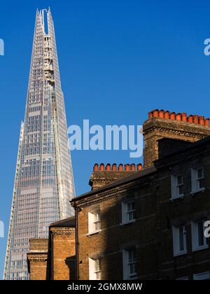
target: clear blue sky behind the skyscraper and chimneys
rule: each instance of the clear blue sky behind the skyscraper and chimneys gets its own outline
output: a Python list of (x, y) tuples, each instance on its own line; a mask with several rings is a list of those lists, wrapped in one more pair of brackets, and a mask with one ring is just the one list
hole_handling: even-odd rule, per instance
[[(68, 125), (139, 125), (152, 109), (210, 116), (209, 1), (3, 1), (0, 38), (0, 220), (10, 216), (36, 8), (52, 10)], [(73, 151), (76, 194), (94, 162), (139, 162), (127, 151)], [(0, 276), (6, 238), (0, 239)]]

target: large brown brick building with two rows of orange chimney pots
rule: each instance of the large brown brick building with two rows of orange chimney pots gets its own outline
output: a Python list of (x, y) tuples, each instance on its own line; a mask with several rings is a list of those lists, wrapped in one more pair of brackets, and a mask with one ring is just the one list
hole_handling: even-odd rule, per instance
[[(94, 165), (92, 190), (71, 201), (76, 279), (210, 279), (209, 135), (209, 119), (155, 110), (143, 168)], [(51, 266), (57, 254), (48, 250)]]

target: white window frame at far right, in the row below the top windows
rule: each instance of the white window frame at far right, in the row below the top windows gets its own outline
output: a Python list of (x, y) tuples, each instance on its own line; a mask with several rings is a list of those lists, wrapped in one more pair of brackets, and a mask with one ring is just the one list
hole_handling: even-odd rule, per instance
[(204, 245), (199, 246), (199, 243), (198, 243), (199, 242), (198, 223), (200, 223), (200, 222), (203, 223), (203, 231), (204, 231), (206, 229), (206, 227), (204, 227), (205, 220), (191, 222), (192, 250), (193, 251), (200, 251), (200, 250), (209, 248), (208, 239), (204, 235), (203, 235)]

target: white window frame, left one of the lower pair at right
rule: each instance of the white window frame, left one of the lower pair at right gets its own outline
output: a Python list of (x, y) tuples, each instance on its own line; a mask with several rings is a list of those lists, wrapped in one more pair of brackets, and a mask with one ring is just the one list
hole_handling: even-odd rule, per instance
[[(183, 250), (180, 249), (180, 229), (183, 229)], [(174, 256), (188, 253), (186, 225), (172, 227)]]

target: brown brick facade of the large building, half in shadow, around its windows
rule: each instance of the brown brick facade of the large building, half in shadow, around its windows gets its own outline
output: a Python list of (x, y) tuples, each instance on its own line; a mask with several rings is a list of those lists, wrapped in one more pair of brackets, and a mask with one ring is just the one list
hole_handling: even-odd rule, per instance
[[(191, 222), (210, 216), (210, 139), (155, 162), (156, 172), (116, 182), (73, 200), (78, 210), (79, 279), (89, 279), (89, 258), (101, 258), (102, 279), (123, 279), (123, 248), (135, 246), (139, 279), (179, 279), (209, 272), (209, 248), (192, 250)], [(192, 195), (191, 168), (204, 168), (205, 190)], [(184, 197), (171, 200), (172, 174), (184, 175)], [(132, 176), (131, 176), (132, 178)], [(121, 225), (121, 202), (134, 197), (135, 221)], [(101, 212), (101, 232), (88, 235), (88, 213)], [(188, 252), (174, 257), (172, 227), (186, 223)]]

